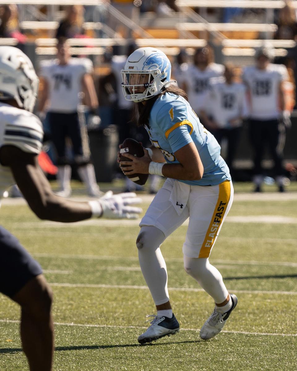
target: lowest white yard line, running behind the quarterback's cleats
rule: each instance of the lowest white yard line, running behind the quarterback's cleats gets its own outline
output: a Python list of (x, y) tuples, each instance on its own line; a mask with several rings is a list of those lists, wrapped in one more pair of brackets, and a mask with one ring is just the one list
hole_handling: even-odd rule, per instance
[[(0, 322), (3, 323), (17, 323), (19, 324), (20, 321), (16, 321), (13, 319), (0, 319)], [(95, 324), (74, 324), (71, 323), (63, 323), (63, 322), (54, 322), (55, 326), (77, 326), (77, 327), (95, 327), (95, 328), (135, 328), (135, 329), (146, 329), (145, 326), (116, 326), (116, 325), (95, 325)], [(200, 332), (200, 329), (196, 328), (181, 328), (180, 331), (195, 331)], [(248, 332), (248, 331), (222, 331), (225, 334), (242, 334), (242, 335), (262, 335), (262, 336), (297, 336), (297, 334), (278, 334), (277, 332)]]

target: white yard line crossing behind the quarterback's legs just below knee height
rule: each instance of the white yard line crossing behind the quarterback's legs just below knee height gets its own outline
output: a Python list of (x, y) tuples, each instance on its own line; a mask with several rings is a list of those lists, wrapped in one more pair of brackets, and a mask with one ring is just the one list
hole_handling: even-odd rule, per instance
[[(99, 256), (99, 255), (72, 255), (72, 254), (49, 254), (49, 253), (31, 253), (36, 257), (53, 257), (58, 259), (86, 259), (86, 260), (128, 260), (132, 262), (138, 262), (136, 256)], [(166, 258), (167, 262), (183, 262), (183, 258)], [(294, 262), (259, 262), (254, 260), (212, 260), (213, 264), (230, 264), (230, 265), (277, 265), (285, 267), (297, 267), (297, 263)]]

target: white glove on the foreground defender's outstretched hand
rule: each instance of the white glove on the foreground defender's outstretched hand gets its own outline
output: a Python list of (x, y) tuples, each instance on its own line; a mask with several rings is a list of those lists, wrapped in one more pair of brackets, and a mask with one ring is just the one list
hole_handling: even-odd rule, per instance
[(140, 207), (130, 205), (141, 203), (136, 193), (113, 194), (108, 191), (97, 201), (89, 201), (93, 216), (108, 219), (136, 219), (142, 212)]

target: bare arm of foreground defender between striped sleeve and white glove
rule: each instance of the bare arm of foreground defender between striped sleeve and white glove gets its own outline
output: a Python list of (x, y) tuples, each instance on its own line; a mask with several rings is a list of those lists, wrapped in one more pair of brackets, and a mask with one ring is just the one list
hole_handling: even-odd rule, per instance
[(0, 149), (0, 162), (10, 167), (30, 209), (40, 219), (70, 223), (91, 218), (87, 202), (70, 201), (53, 193), (39, 167), (37, 155), (6, 145)]

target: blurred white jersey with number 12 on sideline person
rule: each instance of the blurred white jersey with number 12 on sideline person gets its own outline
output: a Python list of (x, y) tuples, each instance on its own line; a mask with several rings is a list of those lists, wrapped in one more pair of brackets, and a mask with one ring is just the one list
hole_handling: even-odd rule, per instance
[(210, 82), (203, 109), (220, 128), (234, 127), (229, 124), (231, 119), (248, 116), (246, 87), (240, 83)]

